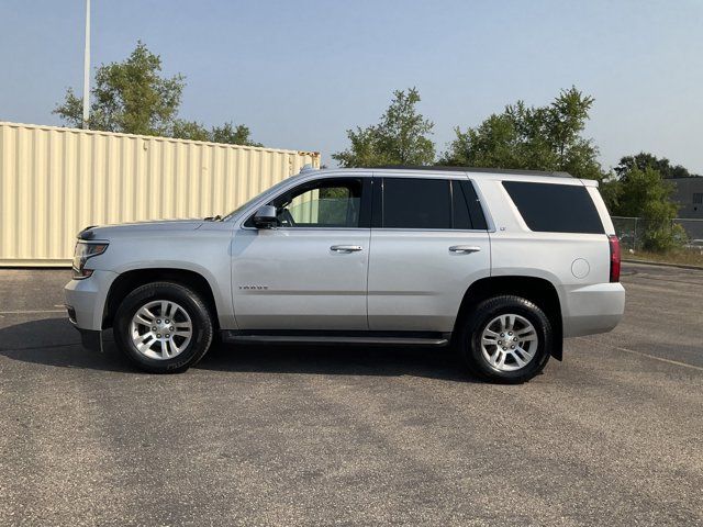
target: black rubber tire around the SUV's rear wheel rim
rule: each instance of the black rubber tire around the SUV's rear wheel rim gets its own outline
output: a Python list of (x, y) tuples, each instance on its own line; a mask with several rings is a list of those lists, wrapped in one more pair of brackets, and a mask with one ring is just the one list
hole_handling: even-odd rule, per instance
[[(503, 371), (494, 365), (491, 365), (484, 356), (481, 345), (483, 332), (489, 324), (499, 316), (507, 314), (524, 317), (529, 322), (529, 324), (532, 324), (537, 336), (534, 356), (523, 367), (518, 366), (515, 359), (515, 354), (509, 349), (509, 355), (506, 355), (509, 358), (505, 359), (505, 362), (507, 363), (507, 367), (517, 368), (513, 371)], [(513, 334), (511, 333), (511, 336)], [(515, 335), (517, 335), (517, 332)], [(505, 335), (505, 337), (507, 337), (507, 335)], [(496, 336), (495, 338), (505, 337)], [(554, 333), (549, 318), (538, 306), (521, 296), (505, 295), (493, 296), (477, 305), (460, 328), (457, 344), (459, 346), (459, 352), (472, 373), (491, 382), (517, 384), (526, 382), (537, 375), (542, 372), (545, 366), (547, 366), (551, 351)], [(515, 344), (517, 345), (517, 343)], [(520, 349), (520, 345), (517, 346)], [(498, 346), (487, 346), (487, 352), (492, 350), (498, 350)], [(522, 354), (520, 357), (525, 359), (525, 356)], [(503, 366), (503, 368), (505, 368), (505, 366)]]

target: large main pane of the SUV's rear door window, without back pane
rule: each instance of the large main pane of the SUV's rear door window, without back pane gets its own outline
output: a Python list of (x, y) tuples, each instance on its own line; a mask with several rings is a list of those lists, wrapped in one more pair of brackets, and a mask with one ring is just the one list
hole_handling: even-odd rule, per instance
[(446, 179), (384, 178), (383, 226), (451, 228), (451, 194)]

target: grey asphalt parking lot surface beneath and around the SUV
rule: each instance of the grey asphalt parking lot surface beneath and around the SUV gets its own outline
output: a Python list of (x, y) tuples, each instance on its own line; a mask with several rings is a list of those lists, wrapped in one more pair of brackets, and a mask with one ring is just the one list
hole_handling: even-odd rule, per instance
[(626, 265), (613, 333), (524, 385), (447, 350), (83, 350), (0, 270), (0, 525), (703, 525), (703, 271)]

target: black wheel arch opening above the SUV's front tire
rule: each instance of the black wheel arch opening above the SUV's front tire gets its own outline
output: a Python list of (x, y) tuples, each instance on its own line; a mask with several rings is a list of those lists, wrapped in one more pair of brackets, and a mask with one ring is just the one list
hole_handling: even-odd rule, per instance
[(143, 268), (124, 271), (112, 281), (102, 315), (102, 328), (112, 326), (114, 315), (124, 298), (136, 288), (150, 282), (176, 282), (199, 293), (217, 325), (217, 305), (211, 283), (197, 271), (180, 268)]

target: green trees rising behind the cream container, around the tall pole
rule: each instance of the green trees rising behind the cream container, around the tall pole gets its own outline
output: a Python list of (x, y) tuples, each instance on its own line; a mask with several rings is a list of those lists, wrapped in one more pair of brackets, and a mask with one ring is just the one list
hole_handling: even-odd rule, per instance
[[(182, 75), (161, 75), (161, 58), (140, 41), (124, 61), (97, 68), (88, 125), (105, 132), (260, 146), (245, 125), (225, 123), (208, 130), (197, 121), (178, 119), (185, 87)], [(53, 113), (80, 127), (82, 99), (69, 88)]]

